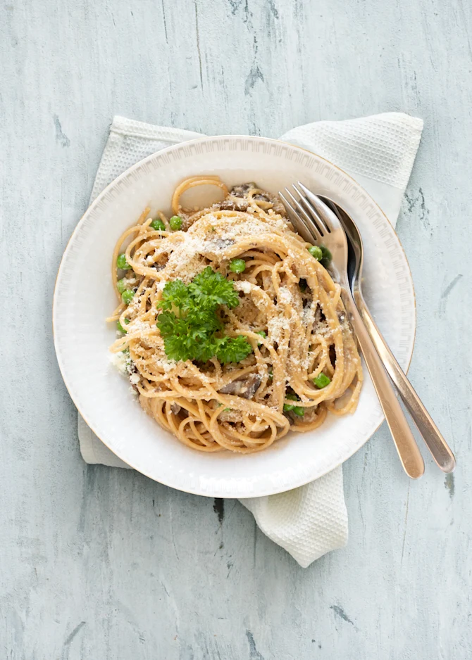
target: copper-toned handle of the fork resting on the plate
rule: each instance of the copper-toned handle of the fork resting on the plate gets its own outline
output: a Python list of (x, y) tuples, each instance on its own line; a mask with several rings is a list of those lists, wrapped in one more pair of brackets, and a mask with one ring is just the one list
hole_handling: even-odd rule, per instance
[(418, 449), (416, 440), (406, 421), (406, 417), (395, 396), (392, 383), (385, 371), (382, 361), (375, 350), (371, 336), (368, 334), (361, 315), (356, 308), (354, 298), (346, 288), (343, 290), (342, 300), (349, 315), (352, 327), (359, 342), (359, 347), (364, 355), (373, 386), (378, 395), (383, 414), (392, 433), (392, 438), (397, 448), (399, 459), (406, 474), (412, 479), (418, 479), (425, 471), (423, 457)]

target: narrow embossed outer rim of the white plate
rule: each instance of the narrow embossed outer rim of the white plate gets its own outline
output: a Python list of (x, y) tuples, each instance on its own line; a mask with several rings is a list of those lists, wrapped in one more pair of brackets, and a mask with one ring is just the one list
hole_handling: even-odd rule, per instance
[[(380, 215), (382, 215), (385, 218), (385, 220), (387, 220), (387, 223), (392, 228), (392, 232), (393, 232), (393, 234), (395, 234), (395, 239), (397, 241), (397, 244), (398, 244), (400, 250), (403, 253), (404, 262), (405, 262), (405, 265), (408, 269), (409, 281), (411, 283), (411, 292), (412, 292), (412, 295), (413, 295), (412, 302), (413, 302), (413, 307), (414, 307), (414, 318), (413, 318), (413, 332), (412, 332), (413, 336), (412, 336), (412, 342), (411, 342), (411, 350), (409, 350), (408, 364), (406, 366), (405, 373), (408, 373), (408, 371), (409, 371), (409, 367), (411, 365), (411, 360), (413, 359), (414, 347), (415, 347), (415, 343), (416, 343), (417, 307), (416, 307), (416, 291), (415, 291), (415, 287), (414, 287), (414, 280), (413, 280), (413, 276), (411, 274), (411, 267), (409, 265), (408, 258), (406, 257), (406, 253), (405, 253), (404, 247), (402, 246), (402, 242), (400, 241), (399, 236), (397, 235), (397, 232), (395, 231), (395, 227), (392, 225), (392, 222), (390, 222), (390, 219), (387, 217), (387, 215), (385, 214), (383, 209), (380, 208), (380, 205), (378, 205), (378, 203), (373, 199), (371, 194), (368, 193), (368, 191), (366, 191), (364, 186), (359, 184), (359, 182), (357, 182), (356, 179), (351, 174), (348, 174), (347, 172), (345, 172), (345, 170), (342, 170), (342, 167), (339, 167), (338, 165), (335, 165), (335, 163), (328, 160), (328, 158), (324, 158), (323, 156), (320, 156), (318, 153), (316, 153), (314, 151), (310, 151), (309, 149), (304, 148), (302, 146), (299, 146), (297, 144), (292, 144), (292, 143), (287, 142), (285, 140), (280, 140), (280, 139), (275, 139), (275, 138), (268, 138), (268, 137), (261, 137), (261, 136), (256, 136), (256, 135), (223, 134), (223, 135), (215, 135), (215, 136), (208, 136), (208, 135), (207, 136), (202, 136), (202, 137), (195, 138), (195, 139), (192, 139), (192, 140), (185, 140), (185, 141), (178, 142), (176, 144), (170, 144), (168, 147), (165, 147), (163, 149), (160, 149), (159, 151), (155, 151), (155, 152), (149, 154), (149, 156), (146, 156), (145, 158), (142, 158), (141, 160), (138, 160), (137, 163), (134, 163), (133, 165), (128, 167), (127, 170), (125, 170), (124, 172), (121, 172), (121, 174), (119, 174), (118, 177), (113, 179), (113, 181), (111, 181), (107, 186), (105, 186), (105, 188), (99, 193), (99, 195), (97, 195), (97, 197), (94, 199), (94, 201), (86, 208), (85, 212), (82, 214), (82, 216), (78, 220), (77, 224), (75, 225), (72, 234), (70, 234), (70, 237), (69, 237), (69, 239), (66, 243), (66, 247), (63, 250), (63, 254), (62, 254), (61, 260), (60, 260), (59, 265), (58, 265), (56, 280), (54, 282), (54, 292), (53, 292), (52, 310), (51, 310), (54, 351), (56, 353), (56, 360), (58, 362), (59, 371), (61, 372), (61, 376), (62, 376), (64, 385), (66, 386), (66, 389), (68, 391), (68, 395), (70, 396), (73, 404), (75, 405), (75, 408), (77, 409), (77, 413), (81, 415), (82, 419), (85, 421), (85, 424), (87, 424), (87, 426), (89, 426), (89, 429), (91, 429), (91, 431), (94, 433), (94, 435), (97, 436), (97, 438), (99, 438), (99, 440), (102, 443), (104, 443), (106, 448), (108, 448), (108, 450), (110, 450), (113, 453), (113, 455), (115, 455), (120, 460), (125, 462), (125, 464), (127, 464), (130, 468), (134, 469), (135, 471), (139, 472), (140, 474), (143, 474), (144, 476), (147, 476), (147, 478), (150, 478), (152, 481), (156, 481), (156, 483), (162, 483), (163, 486), (167, 486), (168, 488), (174, 488), (175, 490), (180, 490), (182, 493), (190, 493), (191, 495), (200, 495), (201, 497), (230, 497), (231, 499), (234, 499), (235, 497), (237, 497), (237, 495), (228, 495), (228, 491), (224, 490), (224, 489), (221, 490), (221, 492), (218, 492), (217, 490), (215, 490), (214, 492), (209, 494), (209, 493), (203, 492), (199, 488), (188, 488), (188, 487), (185, 488), (185, 487), (181, 487), (181, 486), (175, 486), (172, 483), (168, 483), (167, 481), (165, 481), (161, 478), (159, 478), (159, 480), (158, 480), (154, 476), (152, 476), (151, 474), (147, 473), (147, 471), (144, 471), (143, 469), (139, 469), (139, 468), (135, 467), (134, 465), (132, 465), (130, 462), (125, 461), (124, 459), (122, 459), (120, 457), (120, 455), (115, 450), (113, 450), (108, 445), (108, 443), (106, 443), (106, 441), (103, 438), (101, 438), (99, 436), (99, 433), (97, 433), (97, 431), (95, 431), (95, 429), (94, 429), (94, 426), (89, 423), (89, 421), (87, 420), (86, 415), (80, 409), (80, 406), (77, 405), (77, 402), (76, 402), (76, 400), (73, 396), (73, 393), (71, 392), (71, 389), (73, 389), (73, 388), (70, 387), (70, 384), (68, 383), (68, 378), (66, 376), (65, 365), (63, 365), (61, 363), (61, 357), (60, 357), (61, 352), (58, 350), (58, 345), (57, 345), (58, 338), (57, 338), (57, 335), (56, 335), (56, 327), (55, 327), (55, 323), (54, 323), (54, 320), (56, 318), (56, 313), (57, 313), (56, 308), (57, 308), (57, 304), (58, 304), (58, 284), (59, 284), (59, 279), (60, 279), (60, 276), (61, 276), (61, 271), (63, 269), (63, 265), (64, 265), (64, 262), (66, 261), (68, 253), (70, 252), (70, 246), (73, 243), (73, 240), (75, 239), (76, 234), (80, 231), (80, 227), (82, 226), (82, 224), (85, 220), (85, 217), (90, 212), (92, 212), (92, 210), (94, 210), (94, 208), (97, 205), (99, 205), (99, 203), (101, 202), (101, 199), (104, 196), (106, 196), (108, 191), (111, 190), (113, 188), (113, 186), (116, 186), (116, 184), (118, 182), (120, 182), (122, 179), (125, 179), (126, 177), (128, 177), (130, 175), (130, 173), (133, 172), (134, 170), (136, 170), (137, 168), (142, 167), (142, 165), (144, 165), (145, 163), (151, 161), (153, 158), (155, 158), (156, 154), (161, 155), (163, 153), (168, 153), (169, 151), (177, 151), (179, 148), (182, 148), (182, 146), (184, 146), (184, 145), (185, 146), (190, 146), (192, 144), (197, 144), (199, 142), (206, 142), (206, 141), (215, 140), (215, 139), (217, 139), (217, 140), (224, 140), (224, 139), (246, 139), (246, 140), (248, 140), (249, 139), (249, 140), (254, 140), (256, 142), (262, 142), (262, 143), (274, 142), (276, 144), (282, 144), (282, 145), (290, 146), (291, 148), (293, 148), (297, 151), (304, 151), (304, 152), (308, 153), (310, 156), (316, 156), (316, 158), (319, 158), (320, 160), (323, 160), (325, 163), (328, 163), (328, 165), (335, 168), (335, 170), (337, 170), (338, 172), (341, 172), (344, 175), (344, 177), (347, 177), (347, 179), (350, 179), (352, 182), (354, 182), (354, 184), (356, 184), (356, 186), (358, 186), (359, 189), (361, 189), (366, 194), (369, 201), (371, 201), (371, 203), (373, 203), (373, 205), (375, 206), (375, 209), (378, 210), (378, 212), (380, 212)], [(302, 481), (300, 483), (298, 483), (296, 486), (291, 486), (288, 489), (284, 488), (283, 490), (273, 490), (271, 488), (268, 488), (266, 492), (262, 491), (261, 493), (258, 493), (257, 495), (253, 495), (251, 497), (266, 497), (268, 495), (277, 495), (279, 493), (285, 493), (285, 492), (288, 492), (288, 490), (292, 490), (294, 488), (301, 488), (302, 486), (306, 486), (306, 484), (311, 483), (311, 481), (316, 481), (316, 479), (321, 478), (322, 476), (325, 476), (326, 474), (329, 474), (329, 472), (331, 472), (331, 471), (337, 469), (338, 467), (342, 466), (342, 464), (344, 462), (346, 462), (356, 452), (358, 452), (362, 447), (364, 447), (364, 445), (366, 445), (366, 443), (368, 443), (368, 441), (371, 440), (372, 436), (378, 431), (378, 429), (380, 429), (380, 426), (382, 426), (384, 421), (385, 421), (385, 417), (380, 419), (378, 425), (375, 426), (375, 429), (373, 429), (373, 431), (371, 431), (371, 433), (368, 435), (366, 440), (364, 440), (364, 442), (359, 447), (353, 448), (353, 450), (351, 452), (349, 452), (349, 455), (347, 455), (344, 459), (342, 459), (341, 462), (338, 462), (336, 465), (333, 465), (332, 467), (330, 467), (330, 469), (326, 469), (321, 474), (318, 474), (318, 476), (316, 476), (315, 478), (309, 478), (309, 479), (306, 479), (306, 480), (302, 479)], [(251, 497), (238, 497), (238, 499), (242, 499), (242, 500), (243, 499), (251, 499)]]

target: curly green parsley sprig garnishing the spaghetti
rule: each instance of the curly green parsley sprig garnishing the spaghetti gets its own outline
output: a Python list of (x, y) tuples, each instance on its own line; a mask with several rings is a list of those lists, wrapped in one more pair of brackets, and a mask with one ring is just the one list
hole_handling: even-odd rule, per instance
[(217, 357), (223, 364), (244, 360), (251, 344), (241, 335), (222, 335), (223, 323), (216, 315), (220, 305), (231, 309), (239, 304), (232, 282), (210, 266), (188, 285), (180, 279), (168, 282), (158, 305), (163, 311), (157, 317), (167, 357), (199, 362)]

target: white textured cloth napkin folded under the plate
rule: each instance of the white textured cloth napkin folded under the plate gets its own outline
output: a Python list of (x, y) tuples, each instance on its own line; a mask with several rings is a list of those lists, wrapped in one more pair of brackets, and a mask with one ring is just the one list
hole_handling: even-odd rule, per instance
[[(297, 144), (351, 174), (395, 226), (421, 138), (423, 121), (384, 113), (341, 122), (315, 122), (290, 130), (281, 140)], [(115, 117), (94, 182), (92, 202), (118, 174), (171, 144), (200, 133)], [(101, 443), (79, 414), (79, 440), (87, 463), (130, 468)], [(303, 566), (347, 543), (342, 467), (287, 493), (241, 500), (259, 528)]]

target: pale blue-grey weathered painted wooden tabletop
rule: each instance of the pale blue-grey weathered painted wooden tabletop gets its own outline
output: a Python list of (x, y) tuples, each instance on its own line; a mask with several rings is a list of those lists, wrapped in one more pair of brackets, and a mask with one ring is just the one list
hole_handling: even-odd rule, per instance
[[(466, 0), (1, 2), (2, 659), (471, 658), (471, 29)], [(411, 379), (459, 467), (411, 483), (380, 429), (349, 546), (303, 570), (238, 502), (82, 462), (51, 296), (113, 114), (277, 137), (384, 110), (426, 122)]]

